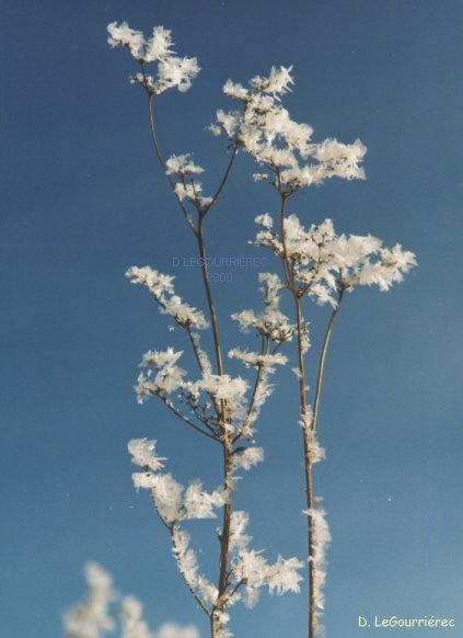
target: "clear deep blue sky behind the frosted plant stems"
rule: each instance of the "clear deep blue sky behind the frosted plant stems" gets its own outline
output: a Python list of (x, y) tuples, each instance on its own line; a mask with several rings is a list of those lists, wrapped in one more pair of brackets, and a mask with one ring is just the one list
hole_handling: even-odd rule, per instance
[[(271, 65), (294, 66), (287, 106), (315, 140), (368, 146), (366, 182), (292, 201), (306, 223), (332, 217), (339, 232), (400, 241), (419, 262), (387, 294), (348, 296), (334, 333), (320, 421), (327, 459), (314, 472), (333, 535), (325, 624), (329, 638), (356, 638), (374, 635), (359, 615), (433, 615), (460, 629), (432, 636), (463, 635), (463, 3), (3, 0), (1, 13), (0, 635), (59, 637), (93, 559), (144, 602), (153, 627), (175, 618), (207, 636), (165, 531), (130, 482), (135, 436), (158, 438), (180, 480), (215, 487), (220, 468), (212, 443), (155, 401), (135, 401), (141, 354), (181, 338), (124, 273), (173, 272), (173, 257), (195, 247), (155, 164), (144, 96), (127, 81), (132, 60), (106, 44), (115, 20), (172, 29), (177, 52), (198, 57), (193, 89), (163, 95), (158, 117), (165, 151), (195, 151), (208, 169), (206, 191), (225, 162), (223, 140), (205, 130), (230, 105), (223, 82)], [(261, 255), (246, 240), (277, 203), (252, 170), (240, 158), (208, 226), (210, 254)], [(258, 269), (228, 272), (215, 293), (232, 348), (243, 337), (229, 316), (250, 307)], [(199, 271), (175, 274), (201, 305)], [(326, 311), (312, 319), (315, 330)], [(236, 494), (269, 560), (305, 551), (297, 387), (288, 371), (276, 380), (258, 424), (266, 463)], [(192, 529), (207, 566), (217, 540), (201, 522)], [(300, 638), (305, 595), (238, 606), (232, 628)]]

